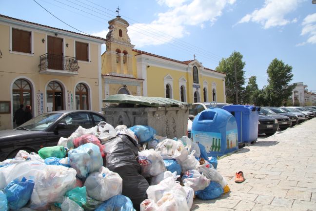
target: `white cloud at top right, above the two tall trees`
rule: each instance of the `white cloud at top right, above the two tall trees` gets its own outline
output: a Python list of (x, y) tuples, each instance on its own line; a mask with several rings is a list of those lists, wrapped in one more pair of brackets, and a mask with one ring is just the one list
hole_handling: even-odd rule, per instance
[(256, 9), (251, 14), (244, 16), (238, 23), (257, 22), (268, 29), (274, 26), (284, 26), (290, 22), (296, 22), (294, 19), (290, 21), (285, 16), (296, 10), (298, 4), (302, 0), (265, 0), (261, 9)]

